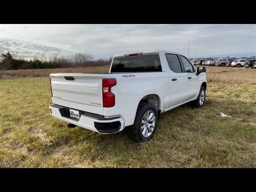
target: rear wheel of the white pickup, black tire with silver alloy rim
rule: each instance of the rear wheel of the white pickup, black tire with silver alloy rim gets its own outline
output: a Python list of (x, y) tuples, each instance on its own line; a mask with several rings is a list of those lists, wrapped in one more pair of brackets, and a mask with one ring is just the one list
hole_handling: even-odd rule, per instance
[(154, 105), (141, 102), (138, 106), (134, 124), (128, 127), (128, 137), (135, 142), (149, 141), (157, 127), (157, 110)]

